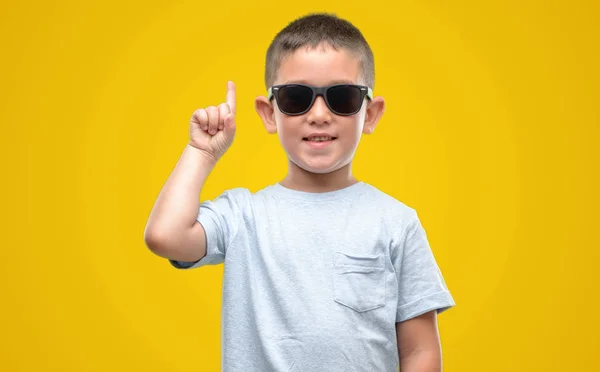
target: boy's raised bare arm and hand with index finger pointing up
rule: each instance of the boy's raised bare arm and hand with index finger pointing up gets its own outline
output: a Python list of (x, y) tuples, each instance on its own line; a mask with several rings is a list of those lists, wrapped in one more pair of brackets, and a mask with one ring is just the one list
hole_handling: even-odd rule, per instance
[(194, 112), (190, 142), (163, 186), (148, 218), (144, 241), (155, 254), (194, 262), (206, 255), (206, 234), (196, 221), (199, 194), (235, 134), (235, 85), (227, 83), (227, 102)]

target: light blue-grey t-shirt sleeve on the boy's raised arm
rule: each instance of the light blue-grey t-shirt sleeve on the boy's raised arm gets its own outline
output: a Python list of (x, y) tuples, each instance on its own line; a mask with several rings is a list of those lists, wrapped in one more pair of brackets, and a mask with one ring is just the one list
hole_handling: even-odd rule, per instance
[(249, 191), (242, 188), (227, 190), (214, 200), (200, 204), (196, 220), (206, 233), (206, 256), (195, 262), (169, 260), (177, 269), (194, 269), (217, 265), (225, 261), (230, 243), (244, 226), (244, 207)]

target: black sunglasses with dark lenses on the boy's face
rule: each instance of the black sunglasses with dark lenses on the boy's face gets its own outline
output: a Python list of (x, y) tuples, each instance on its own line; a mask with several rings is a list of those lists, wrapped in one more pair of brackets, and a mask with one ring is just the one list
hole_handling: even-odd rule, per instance
[(268, 99), (275, 97), (279, 110), (286, 115), (302, 115), (323, 96), (327, 107), (337, 115), (350, 116), (360, 111), (365, 97), (373, 99), (373, 91), (364, 85), (336, 84), (313, 87), (304, 84), (273, 85)]

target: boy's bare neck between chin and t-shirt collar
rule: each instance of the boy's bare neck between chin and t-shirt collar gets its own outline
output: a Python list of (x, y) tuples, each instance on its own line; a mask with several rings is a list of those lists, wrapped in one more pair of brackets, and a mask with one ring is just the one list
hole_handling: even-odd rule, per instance
[(289, 161), (288, 174), (281, 186), (306, 192), (329, 192), (351, 186), (358, 181), (352, 175), (352, 163), (331, 173), (312, 173)]

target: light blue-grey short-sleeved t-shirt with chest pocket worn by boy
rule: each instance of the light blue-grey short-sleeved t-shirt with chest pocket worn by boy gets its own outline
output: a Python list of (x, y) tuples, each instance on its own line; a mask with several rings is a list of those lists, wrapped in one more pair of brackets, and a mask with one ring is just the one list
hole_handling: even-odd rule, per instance
[(228, 190), (200, 206), (224, 263), (224, 372), (397, 372), (396, 322), (454, 306), (417, 213), (358, 182)]

